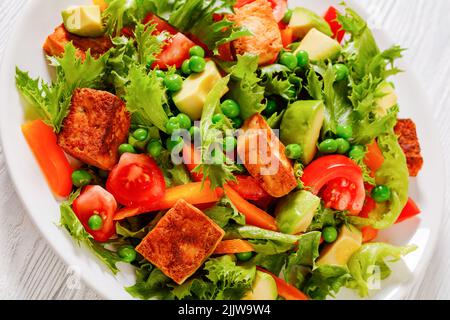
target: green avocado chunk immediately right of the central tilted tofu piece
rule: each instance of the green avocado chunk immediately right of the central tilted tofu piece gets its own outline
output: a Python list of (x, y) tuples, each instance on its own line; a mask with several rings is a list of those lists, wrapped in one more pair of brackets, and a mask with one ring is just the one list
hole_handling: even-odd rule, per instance
[(284, 145), (299, 144), (302, 162), (309, 164), (317, 151), (317, 141), (324, 121), (325, 105), (320, 100), (303, 100), (291, 104), (283, 116), (280, 138)]

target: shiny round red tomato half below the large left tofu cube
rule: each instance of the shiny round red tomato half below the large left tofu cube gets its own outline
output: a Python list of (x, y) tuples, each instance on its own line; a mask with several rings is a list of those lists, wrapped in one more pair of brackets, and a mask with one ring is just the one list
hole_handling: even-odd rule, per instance
[(144, 154), (125, 153), (111, 171), (106, 188), (127, 207), (148, 205), (165, 193), (166, 183), (155, 160)]

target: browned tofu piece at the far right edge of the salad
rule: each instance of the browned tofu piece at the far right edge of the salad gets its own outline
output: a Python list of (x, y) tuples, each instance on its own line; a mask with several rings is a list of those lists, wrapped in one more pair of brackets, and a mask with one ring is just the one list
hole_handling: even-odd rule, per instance
[(423, 158), (417, 137), (416, 124), (411, 119), (399, 119), (395, 126), (398, 142), (406, 156), (409, 175), (417, 177), (423, 166)]

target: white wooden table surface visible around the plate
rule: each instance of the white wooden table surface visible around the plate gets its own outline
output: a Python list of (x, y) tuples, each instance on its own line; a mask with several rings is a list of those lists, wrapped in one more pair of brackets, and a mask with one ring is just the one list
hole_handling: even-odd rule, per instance
[[(27, 0), (0, 0), (0, 56)], [(35, 0), (30, 0), (35, 1)], [(450, 0), (359, 0), (371, 23), (389, 30), (409, 48), (405, 59), (423, 79), (450, 163)], [(0, 97), (1, 101), (1, 97)], [(1, 108), (8, 106), (1, 105)], [(450, 208), (447, 172), (446, 208)], [(430, 186), (431, 187), (431, 186)], [(433, 214), (429, 212), (428, 214)], [(450, 219), (447, 212), (440, 241), (424, 279), (409, 299), (450, 298)], [(68, 289), (70, 270), (50, 249), (27, 216), (12, 188), (0, 146), (0, 299), (98, 299), (81, 285)]]

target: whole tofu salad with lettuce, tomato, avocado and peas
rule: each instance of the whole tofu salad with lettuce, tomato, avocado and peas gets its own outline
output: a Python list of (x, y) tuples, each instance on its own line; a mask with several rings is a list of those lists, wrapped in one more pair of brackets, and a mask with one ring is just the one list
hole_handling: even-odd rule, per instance
[(22, 131), (61, 228), (114, 274), (134, 266), (132, 297), (366, 297), (415, 250), (376, 240), (420, 213), (391, 82), (404, 49), (352, 8), (94, 0), (61, 16), (42, 39), (53, 81), (17, 68)]

